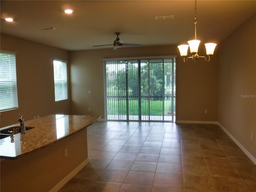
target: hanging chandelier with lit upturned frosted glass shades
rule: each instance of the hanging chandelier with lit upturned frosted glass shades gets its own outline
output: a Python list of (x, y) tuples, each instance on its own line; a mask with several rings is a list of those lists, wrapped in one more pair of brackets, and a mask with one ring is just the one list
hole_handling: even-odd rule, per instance
[[(199, 56), (197, 54), (198, 52), (198, 46), (200, 44), (200, 40), (198, 40), (196, 38), (196, 24), (197, 24), (197, 20), (196, 20), (196, 0), (195, 0), (195, 39), (194, 40), (190, 40), (188, 41), (188, 45), (179, 45), (178, 48), (180, 50), (180, 56), (183, 57), (183, 61), (187, 62), (188, 59), (193, 59), (194, 62), (196, 62), (196, 60), (198, 60), (198, 58), (204, 58), (206, 61), (210, 61), (210, 55), (213, 55), (214, 53), (214, 49), (215, 46), (217, 45), (216, 43), (206, 43), (205, 48), (206, 48), (206, 54), (208, 55), (208, 59), (204, 56)], [(192, 56), (185, 58), (188, 55), (188, 46), (190, 48), (190, 52), (192, 53)]]

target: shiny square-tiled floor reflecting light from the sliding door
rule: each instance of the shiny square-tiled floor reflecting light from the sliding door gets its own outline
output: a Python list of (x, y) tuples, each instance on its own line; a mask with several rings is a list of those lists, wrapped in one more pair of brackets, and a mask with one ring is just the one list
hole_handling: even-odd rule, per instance
[(256, 192), (256, 165), (213, 124), (96, 122), (88, 156), (59, 192)]

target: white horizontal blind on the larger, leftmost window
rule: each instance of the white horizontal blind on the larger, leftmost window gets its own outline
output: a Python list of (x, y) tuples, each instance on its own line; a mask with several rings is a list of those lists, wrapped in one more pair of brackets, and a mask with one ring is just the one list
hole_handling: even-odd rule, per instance
[(16, 55), (0, 52), (0, 111), (18, 108)]

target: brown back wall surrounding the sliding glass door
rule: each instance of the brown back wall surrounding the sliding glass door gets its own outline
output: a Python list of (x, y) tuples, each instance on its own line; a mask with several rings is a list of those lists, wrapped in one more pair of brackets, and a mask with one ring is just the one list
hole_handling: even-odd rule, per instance
[[(201, 45), (203, 46), (203, 45)], [(204, 54), (204, 50), (199, 53)], [(217, 121), (218, 52), (211, 62), (183, 63), (177, 46), (150, 46), (70, 52), (72, 114), (104, 117), (104, 78), (102, 58), (177, 55), (176, 120)], [(92, 94), (88, 94), (88, 90)], [(88, 108), (91, 112), (88, 112)], [(204, 110), (208, 113), (205, 114)]]

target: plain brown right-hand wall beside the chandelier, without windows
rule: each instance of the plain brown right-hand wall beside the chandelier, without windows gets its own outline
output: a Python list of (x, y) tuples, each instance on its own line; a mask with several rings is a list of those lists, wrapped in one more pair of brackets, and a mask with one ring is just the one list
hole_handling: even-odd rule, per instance
[[(256, 158), (256, 15), (220, 45), (218, 122)], [(249, 98), (241, 95), (248, 95)], [(251, 95), (251, 96), (250, 96)], [(250, 135), (253, 134), (253, 140)]]

